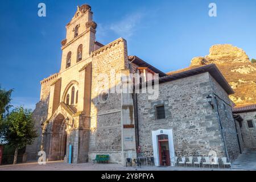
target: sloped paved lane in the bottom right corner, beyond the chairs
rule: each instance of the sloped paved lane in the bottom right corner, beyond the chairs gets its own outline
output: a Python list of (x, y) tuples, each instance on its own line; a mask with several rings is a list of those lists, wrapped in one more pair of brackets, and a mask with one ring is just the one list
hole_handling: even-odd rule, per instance
[(256, 150), (244, 150), (233, 162), (233, 168), (256, 170)]

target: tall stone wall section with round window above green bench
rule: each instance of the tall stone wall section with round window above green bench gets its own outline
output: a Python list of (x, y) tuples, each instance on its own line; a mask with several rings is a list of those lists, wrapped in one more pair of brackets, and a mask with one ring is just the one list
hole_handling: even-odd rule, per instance
[[(121, 163), (121, 94), (110, 93), (111, 86), (119, 84), (120, 80), (115, 80), (112, 85), (109, 79), (111, 71), (118, 74), (121, 73), (122, 69), (127, 68), (126, 41), (117, 39), (94, 51), (92, 57), (89, 160), (95, 159), (97, 154), (108, 154), (110, 155), (110, 162)], [(105, 75), (102, 77), (101, 74)], [(99, 88), (102, 83), (102, 87)], [(109, 98), (105, 103), (99, 101), (102, 90), (109, 92)]]

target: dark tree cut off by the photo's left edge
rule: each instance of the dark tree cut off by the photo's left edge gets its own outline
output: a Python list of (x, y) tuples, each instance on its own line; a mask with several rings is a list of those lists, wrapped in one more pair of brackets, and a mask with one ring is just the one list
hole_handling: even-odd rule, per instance
[(9, 109), (11, 107), (10, 102), (12, 92), (13, 89), (6, 91), (4, 89), (1, 89), (0, 86), (0, 144), (2, 144), (3, 142), (3, 135), (5, 133), (5, 127), (3, 126), (3, 118), (9, 112)]

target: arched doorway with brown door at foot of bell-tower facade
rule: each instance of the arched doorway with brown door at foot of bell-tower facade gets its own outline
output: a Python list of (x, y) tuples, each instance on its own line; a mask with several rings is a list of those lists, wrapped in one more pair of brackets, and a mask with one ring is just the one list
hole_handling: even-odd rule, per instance
[(49, 160), (64, 160), (67, 151), (67, 132), (65, 127), (64, 115), (57, 115), (52, 123)]

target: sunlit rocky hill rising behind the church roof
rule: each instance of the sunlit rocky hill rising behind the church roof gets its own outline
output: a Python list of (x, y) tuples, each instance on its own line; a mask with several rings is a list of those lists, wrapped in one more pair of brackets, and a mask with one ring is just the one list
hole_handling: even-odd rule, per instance
[(235, 104), (256, 103), (256, 63), (250, 62), (243, 49), (230, 44), (212, 46), (209, 55), (193, 58), (189, 68), (212, 63), (217, 65), (236, 92), (230, 96)]

